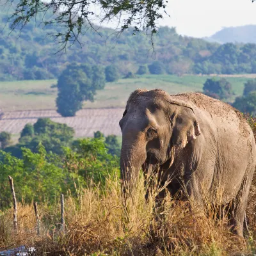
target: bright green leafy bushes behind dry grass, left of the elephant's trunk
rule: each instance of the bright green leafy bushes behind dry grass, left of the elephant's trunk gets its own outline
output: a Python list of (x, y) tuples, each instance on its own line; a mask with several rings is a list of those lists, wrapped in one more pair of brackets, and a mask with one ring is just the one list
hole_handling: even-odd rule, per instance
[(76, 195), (76, 182), (88, 186), (90, 180), (104, 183), (111, 173), (118, 173), (118, 159), (107, 153), (101, 139), (77, 140), (72, 149), (66, 147), (63, 156), (47, 153), (42, 143), (35, 152), (22, 147), (21, 159), (8, 152), (0, 152), (0, 205), (10, 206), (8, 175), (15, 180), (15, 190), (19, 201), (31, 203), (54, 202), (60, 193), (70, 191)]

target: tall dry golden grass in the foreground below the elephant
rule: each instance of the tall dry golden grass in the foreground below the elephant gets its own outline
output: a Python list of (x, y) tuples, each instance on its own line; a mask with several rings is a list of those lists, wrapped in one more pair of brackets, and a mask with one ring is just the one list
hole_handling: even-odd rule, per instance
[[(158, 189), (158, 190), (157, 190)], [(193, 202), (166, 196), (155, 207), (159, 188), (145, 201), (143, 179), (122, 204), (118, 179), (108, 179), (104, 190), (81, 189), (77, 198), (65, 200), (66, 229), (60, 230), (60, 204), (40, 205), (42, 235), (36, 236), (31, 205), (19, 204), (19, 233), (13, 235), (12, 211), (1, 216), (2, 248), (26, 244), (37, 255), (241, 255), (252, 253), (250, 244), (230, 233), (227, 218), (216, 218), (206, 198), (205, 209)], [(209, 198), (208, 198), (209, 199)], [(250, 255), (250, 254), (248, 254)]]

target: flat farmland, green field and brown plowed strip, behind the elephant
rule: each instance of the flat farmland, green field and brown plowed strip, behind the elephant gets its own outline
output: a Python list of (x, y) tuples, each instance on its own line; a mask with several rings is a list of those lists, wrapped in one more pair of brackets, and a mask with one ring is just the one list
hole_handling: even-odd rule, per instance
[[(25, 124), (35, 123), (37, 118), (49, 117), (55, 122), (74, 127), (76, 137), (93, 136), (94, 131), (120, 135), (118, 122), (129, 94), (136, 88), (161, 88), (169, 93), (201, 92), (210, 76), (153, 76), (136, 79), (120, 79), (107, 83), (97, 93), (94, 102), (84, 102), (83, 109), (75, 117), (63, 118), (56, 113), (56, 80), (13, 81), (0, 83), (0, 131), (19, 134)], [(230, 81), (234, 97), (243, 93), (243, 84), (250, 77), (225, 77)], [(234, 100), (234, 97), (230, 101)]]

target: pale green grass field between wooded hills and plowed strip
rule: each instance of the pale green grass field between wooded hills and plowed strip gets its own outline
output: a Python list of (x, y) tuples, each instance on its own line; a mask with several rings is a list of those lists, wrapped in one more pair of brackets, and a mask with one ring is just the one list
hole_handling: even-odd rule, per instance
[[(95, 102), (84, 102), (84, 108), (124, 107), (130, 93), (137, 88), (160, 88), (168, 93), (202, 92), (207, 76), (145, 75), (137, 79), (120, 79), (107, 83), (106, 88), (97, 93)], [(243, 94), (244, 83), (250, 78), (227, 77), (234, 93)], [(0, 108), (3, 111), (55, 109), (57, 88), (51, 88), (56, 80), (0, 82)]]

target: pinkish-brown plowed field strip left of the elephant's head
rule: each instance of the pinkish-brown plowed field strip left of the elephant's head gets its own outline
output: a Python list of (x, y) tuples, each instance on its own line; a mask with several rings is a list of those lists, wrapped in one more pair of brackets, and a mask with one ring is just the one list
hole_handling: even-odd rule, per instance
[(5, 112), (1, 116), (0, 131), (17, 134), (26, 124), (34, 124), (40, 117), (49, 117), (54, 122), (73, 127), (76, 137), (93, 137), (95, 131), (101, 131), (106, 136), (109, 134), (120, 136), (118, 122), (123, 112), (124, 108), (82, 109), (76, 116), (65, 118), (54, 110)]

